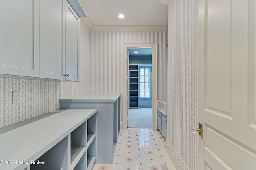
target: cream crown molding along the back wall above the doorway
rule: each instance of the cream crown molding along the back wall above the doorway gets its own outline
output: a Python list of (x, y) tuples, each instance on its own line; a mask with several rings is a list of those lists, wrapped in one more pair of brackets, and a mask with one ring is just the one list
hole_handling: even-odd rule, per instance
[(94, 25), (91, 31), (167, 31), (167, 25)]

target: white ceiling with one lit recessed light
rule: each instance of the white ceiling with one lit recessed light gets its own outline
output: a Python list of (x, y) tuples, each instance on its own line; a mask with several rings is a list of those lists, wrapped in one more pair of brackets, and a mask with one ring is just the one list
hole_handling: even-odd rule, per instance
[(94, 26), (167, 26), (167, 5), (159, 0), (79, 1)]

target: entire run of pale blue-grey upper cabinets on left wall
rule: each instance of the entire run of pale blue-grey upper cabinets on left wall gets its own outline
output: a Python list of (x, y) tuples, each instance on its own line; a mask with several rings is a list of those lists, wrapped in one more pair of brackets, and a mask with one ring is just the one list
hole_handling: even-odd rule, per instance
[[(0, 6), (0, 74), (79, 81), (80, 3), (8, 0)], [(86, 13), (84, 12), (84, 16)], [(84, 17), (82, 16), (82, 17)]]

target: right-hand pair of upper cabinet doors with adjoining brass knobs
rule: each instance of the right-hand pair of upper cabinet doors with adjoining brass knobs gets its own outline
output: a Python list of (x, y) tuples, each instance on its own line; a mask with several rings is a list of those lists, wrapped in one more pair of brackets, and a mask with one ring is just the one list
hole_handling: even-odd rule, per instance
[(66, 0), (40, 1), (40, 77), (79, 81), (79, 18)]

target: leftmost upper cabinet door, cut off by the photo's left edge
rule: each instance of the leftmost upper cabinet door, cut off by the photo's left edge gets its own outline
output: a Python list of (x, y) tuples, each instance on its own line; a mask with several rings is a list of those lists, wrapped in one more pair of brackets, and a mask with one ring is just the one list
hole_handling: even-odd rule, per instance
[(0, 74), (39, 76), (39, 0), (0, 5)]

